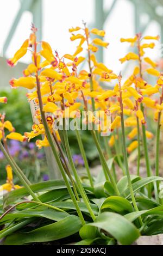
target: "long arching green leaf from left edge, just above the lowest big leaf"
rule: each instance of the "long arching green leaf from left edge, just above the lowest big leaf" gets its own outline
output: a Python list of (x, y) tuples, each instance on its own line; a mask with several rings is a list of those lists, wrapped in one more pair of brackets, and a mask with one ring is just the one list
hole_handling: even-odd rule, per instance
[(62, 218), (65, 218), (67, 216), (67, 212), (55, 211), (53, 209), (28, 209), (23, 211), (16, 211), (12, 214), (5, 215), (0, 221), (0, 224), (4, 222), (9, 222), (14, 218), (25, 219), (26, 217), (43, 217), (53, 221), (60, 221), (62, 220)]

